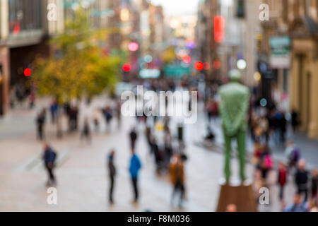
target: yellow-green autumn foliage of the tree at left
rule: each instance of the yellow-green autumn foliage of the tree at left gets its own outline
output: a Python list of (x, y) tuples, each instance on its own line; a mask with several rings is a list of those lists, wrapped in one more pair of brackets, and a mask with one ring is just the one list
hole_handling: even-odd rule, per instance
[(112, 88), (119, 74), (120, 58), (105, 56), (98, 47), (107, 31), (94, 31), (83, 8), (66, 21), (65, 32), (51, 42), (59, 57), (37, 59), (33, 81), (39, 95), (56, 97), (59, 103), (83, 95), (92, 97)]

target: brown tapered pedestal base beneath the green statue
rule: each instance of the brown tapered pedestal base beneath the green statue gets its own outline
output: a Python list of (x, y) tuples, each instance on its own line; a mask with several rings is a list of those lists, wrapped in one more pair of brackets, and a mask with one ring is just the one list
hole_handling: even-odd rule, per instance
[(252, 184), (221, 184), (217, 212), (226, 212), (228, 205), (234, 204), (237, 212), (257, 212)]

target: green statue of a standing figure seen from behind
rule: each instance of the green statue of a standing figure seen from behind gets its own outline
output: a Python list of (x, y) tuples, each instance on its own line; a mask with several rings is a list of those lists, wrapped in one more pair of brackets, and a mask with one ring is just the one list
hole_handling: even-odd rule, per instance
[(249, 108), (249, 89), (240, 84), (240, 71), (229, 73), (230, 83), (220, 87), (220, 116), (223, 119), (223, 133), (225, 140), (225, 179), (230, 182), (231, 141), (237, 140), (240, 159), (240, 179), (245, 181), (245, 136), (247, 131), (247, 111)]

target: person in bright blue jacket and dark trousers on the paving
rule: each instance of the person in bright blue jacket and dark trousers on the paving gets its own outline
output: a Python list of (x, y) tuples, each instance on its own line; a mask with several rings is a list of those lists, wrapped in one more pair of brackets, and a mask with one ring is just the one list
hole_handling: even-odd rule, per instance
[(139, 189), (138, 189), (138, 175), (139, 170), (141, 169), (141, 161), (139, 157), (136, 155), (134, 148), (131, 149), (131, 160), (129, 166), (129, 172), (131, 176), (131, 182), (134, 189), (134, 203), (138, 202), (139, 198)]

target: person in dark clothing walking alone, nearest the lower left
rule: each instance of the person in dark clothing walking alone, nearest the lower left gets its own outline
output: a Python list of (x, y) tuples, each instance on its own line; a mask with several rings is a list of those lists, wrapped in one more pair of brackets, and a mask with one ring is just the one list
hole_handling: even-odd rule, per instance
[(43, 161), (45, 163), (45, 169), (47, 169), (47, 173), (49, 175), (49, 178), (47, 180), (47, 186), (56, 184), (56, 180), (53, 173), (56, 159), (57, 159), (57, 153), (54, 152), (54, 150), (49, 146), (48, 143), (45, 143)]

